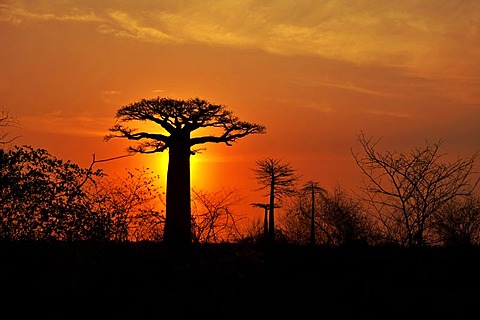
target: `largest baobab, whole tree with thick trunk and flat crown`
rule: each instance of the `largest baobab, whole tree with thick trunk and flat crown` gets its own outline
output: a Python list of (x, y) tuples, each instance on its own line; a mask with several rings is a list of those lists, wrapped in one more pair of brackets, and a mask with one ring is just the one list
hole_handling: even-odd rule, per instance
[[(190, 204), (190, 156), (205, 143), (233, 142), (250, 134), (266, 132), (263, 125), (240, 121), (224, 105), (199, 98), (177, 100), (171, 98), (142, 99), (121, 107), (117, 122), (105, 137), (141, 141), (130, 146), (129, 152), (151, 154), (168, 149), (166, 209), (164, 241), (171, 245), (188, 245), (192, 241)], [(160, 132), (139, 131), (124, 125), (140, 121), (158, 125)], [(198, 129), (208, 129), (205, 130)], [(204, 135), (192, 136), (194, 131)]]

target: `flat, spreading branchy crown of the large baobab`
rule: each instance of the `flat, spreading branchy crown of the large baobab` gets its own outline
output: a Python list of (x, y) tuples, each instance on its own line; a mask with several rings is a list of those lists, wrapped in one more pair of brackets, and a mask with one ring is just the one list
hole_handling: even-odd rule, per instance
[[(171, 98), (142, 99), (120, 108), (116, 114), (117, 124), (110, 128), (113, 137), (129, 140), (145, 140), (137, 146), (129, 147), (132, 152), (162, 152), (176, 143), (181, 136), (188, 136), (188, 146), (207, 142), (232, 145), (237, 139), (255, 133), (265, 133), (265, 127), (259, 124), (240, 121), (233, 112), (220, 104), (192, 98), (176, 100)], [(142, 132), (122, 125), (128, 121), (150, 121), (161, 126), (166, 133)], [(190, 133), (199, 128), (215, 128), (218, 135), (190, 137)], [(192, 154), (197, 150), (190, 150)]]

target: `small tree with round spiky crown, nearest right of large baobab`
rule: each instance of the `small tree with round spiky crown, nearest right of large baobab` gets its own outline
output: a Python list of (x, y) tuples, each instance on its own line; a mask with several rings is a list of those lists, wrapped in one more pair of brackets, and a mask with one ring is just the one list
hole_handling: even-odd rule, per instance
[(268, 190), (269, 217), (268, 217), (268, 238), (275, 241), (275, 200), (282, 200), (282, 197), (295, 193), (295, 183), (298, 176), (295, 169), (289, 163), (282, 163), (280, 159), (267, 157), (256, 161), (257, 167), (253, 169), (257, 182), (261, 185), (259, 190)]

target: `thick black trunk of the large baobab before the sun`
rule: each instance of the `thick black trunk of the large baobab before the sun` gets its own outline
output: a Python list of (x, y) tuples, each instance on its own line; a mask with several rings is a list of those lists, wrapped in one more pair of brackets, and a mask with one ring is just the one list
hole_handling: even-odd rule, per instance
[(192, 241), (190, 155), (188, 139), (170, 145), (164, 229), (164, 242), (169, 245), (188, 246)]

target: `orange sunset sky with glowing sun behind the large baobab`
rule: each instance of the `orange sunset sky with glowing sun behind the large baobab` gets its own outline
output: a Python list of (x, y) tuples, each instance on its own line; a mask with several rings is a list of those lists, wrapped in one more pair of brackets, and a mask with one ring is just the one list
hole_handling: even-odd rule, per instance
[[(87, 167), (125, 154), (104, 141), (141, 99), (199, 97), (266, 134), (192, 157), (192, 187), (266, 202), (255, 161), (281, 159), (327, 190), (361, 186), (359, 133), (379, 151), (480, 151), (478, 0), (0, 0), (0, 108), (19, 145)], [(111, 175), (166, 154), (96, 164)]]

